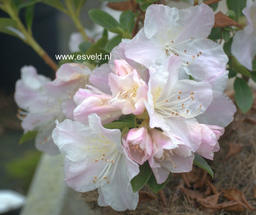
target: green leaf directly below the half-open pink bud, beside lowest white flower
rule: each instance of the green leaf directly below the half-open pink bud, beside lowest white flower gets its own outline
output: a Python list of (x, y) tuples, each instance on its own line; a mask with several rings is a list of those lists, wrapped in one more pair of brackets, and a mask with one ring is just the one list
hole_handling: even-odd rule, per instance
[(140, 173), (131, 179), (131, 187), (133, 188), (133, 192), (135, 193), (143, 188), (151, 175), (152, 169), (149, 166), (148, 161), (146, 161), (144, 164), (140, 165)]

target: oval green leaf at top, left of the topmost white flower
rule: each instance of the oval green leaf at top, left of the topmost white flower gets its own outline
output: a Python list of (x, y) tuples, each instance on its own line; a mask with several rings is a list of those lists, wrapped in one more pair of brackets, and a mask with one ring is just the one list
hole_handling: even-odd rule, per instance
[(100, 9), (91, 9), (89, 10), (89, 16), (93, 22), (104, 27), (107, 30), (118, 29), (118, 22), (110, 14), (100, 10)]

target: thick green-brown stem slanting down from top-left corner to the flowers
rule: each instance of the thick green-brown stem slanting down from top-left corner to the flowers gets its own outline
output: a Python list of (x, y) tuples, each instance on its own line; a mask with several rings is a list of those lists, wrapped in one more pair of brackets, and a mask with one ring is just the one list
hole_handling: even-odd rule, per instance
[(19, 19), (18, 12), (16, 12), (12, 7), (10, 2), (7, 2), (3, 5), (4, 11), (8, 13), (8, 15), (11, 17), (12, 20), (14, 20), (17, 24), (17, 29), (22, 32), (22, 34), (25, 36), (25, 38), (22, 39), (23, 42), (25, 42), (27, 45), (30, 45), (34, 51), (42, 58), (44, 59), (45, 63), (49, 65), (54, 71), (57, 70), (56, 63), (52, 60), (52, 58), (46, 53), (44, 49), (36, 42), (36, 40), (33, 38), (32, 34), (27, 31), (21, 20)]

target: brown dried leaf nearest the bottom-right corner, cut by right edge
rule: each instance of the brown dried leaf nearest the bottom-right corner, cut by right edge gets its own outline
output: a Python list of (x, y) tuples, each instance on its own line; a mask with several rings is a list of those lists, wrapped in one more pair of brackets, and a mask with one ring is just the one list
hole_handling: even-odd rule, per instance
[(235, 200), (239, 202), (245, 208), (249, 210), (255, 211), (255, 208), (251, 206), (251, 204), (245, 199), (244, 193), (235, 188), (229, 188), (227, 190), (223, 190), (224, 196), (229, 200)]

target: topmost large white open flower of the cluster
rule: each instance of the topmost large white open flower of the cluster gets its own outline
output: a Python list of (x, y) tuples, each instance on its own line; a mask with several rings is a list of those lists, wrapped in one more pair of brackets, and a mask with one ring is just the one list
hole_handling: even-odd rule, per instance
[(206, 39), (213, 25), (214, 13), (206, 4), (181, 10), (150, 5), (144, 27), (125, 47), (125, 55), (149, 68), (175, 54), (182, 59), (182, 69), (194, 78), (216, 76), (228, 58), (218, 43)]

